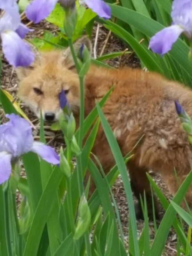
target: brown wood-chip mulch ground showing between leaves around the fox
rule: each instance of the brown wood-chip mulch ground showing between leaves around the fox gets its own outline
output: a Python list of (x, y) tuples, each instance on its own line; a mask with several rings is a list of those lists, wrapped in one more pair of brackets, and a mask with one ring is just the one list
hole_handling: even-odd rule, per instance
[[(30, 33), (29, 37), (34, 37), (34, 36), (41, 36), (44, 32), (44, 30), (49, 30), (53, 31), (56, 33), (56, 28), (49, 24), (48, 22), (42, 21), (38, 25), (32, 25), (32, 28), (34, 28), (34, 32)], [(97, 24), (95, 24), (93, 28), (93, 33), (92, 33), (92, 43), (94, 46), (95, 43), (95, 36), (96, 36), (96, 30), (98, 29)], [(116, 57), (112, 60), (108, 60), (107, 63), (113, 67), (124, 67), (124, 66), (130, 66), (132, 68), (138, 68), (140, 67), (140, 61), (132, 52), (132, 49), (129, 48), (129, 46), (124, 45), (116, 36), (113, 34), (108, 34), (108, 30), (104, 29), (103, 27), (99, 27), (99, 34), (98, 34), (98, 42), (95, 45), (96, 49), (96, 54), (97, 57), (100, 56), (100, 53), (103, 52), (104, 54), (109, 53), (109, 52), (116, 52), (116, 51), (130, 51), (130, 54), (124, 55), (122, 58), (121, 57)], [(107, 39), (107, 41), (106, 41)], [(103, 49), (105, 45), (105, 48)], [(3, 69), (2, 69), (2, 88), (6, 89), (8, 92), (12, 94), (14, 99), (16, 98), (16, 93), (18, 89), (18, 79), (16, 76), (16, 72), (14, 69), (6, 62), (6, 60), (3, 58)], [(17, 100), (17, 99), (16, 99)], [(35, 129), (33, 131), (34, 136), (36, 139), (39, 139), (39, 121), (34, 116), (34, 114), (23, 104), (21, 103), (21, 107), (24, 110), (24, 112), (27, 114), (33, 125), (35, 126)], [(0, 109), (0, 117), (1, 120), (3, 119), (4, 122), (4, 113), (2, 109)], [(47, 140), (47, 144), (52, 145), (55, 148), (59, 148), (61, 141), (62, 141), (62, 136), (60, 132), (53, 132), (50, 130), (50, 126), (46, 125), (44, 126), (45, 128), (45, 136)], [(153, 175), (153, 173), (152, 173)], [(170, 195), (167, 191), (166, 185), (164, 182), (160, 179), (159, 176), (154, 176), (154, 179), (158, 186), (161, 188), (161, 190), (164, 192), (164, 194), (167, 196), (167, 198), (170, 198)], [(119, 177), (113, 186), (113, 193), (115, 195), (115, 199), (117, 202), (117, 206), (119, 208), (120, 212), (120, 217), (122, 221), (122, 226), (124, 229), (124, 234), (125, 234), (125, 241), (127, 242), (128, 240), (128, 218), (129, 218), (129, 211), (128, 211), (128, 206), (126, 203), (126, 196), (124, 193), (124, 188), (123, 188), (123, 183), (121, 178)], [(163, 217), (164, 211), (161, 210), (161, 218)], [(138, 236), (141, 234), (142, 228), (143, 228), (143, 221), (138, 221), (137, 222), (138, 226)], [(150, 222), (150, 236), (151, 239), (154, 238), (154, 228), (153, 228), (153, 223)], [(173, 256), (176, 255), (176, 235), (173, 231), (173, 229), (170, 230), (167, 242), (166, 242), (166, 247), (163, 255), (169, 255)]]

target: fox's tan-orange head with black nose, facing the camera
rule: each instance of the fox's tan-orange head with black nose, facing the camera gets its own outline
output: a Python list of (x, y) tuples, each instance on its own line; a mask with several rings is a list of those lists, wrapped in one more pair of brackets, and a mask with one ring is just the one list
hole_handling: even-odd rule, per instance
[[(90, 40), (84, 36), (74, 44), (76, 52), (82, 44), (91, 50)], [(61, 111), (59, 93), (63, 89), (73, 111), (80, 105), (79, 78), (70, 49), (38, 52), (30, 67), (17, 69), (20, 80), (18, 96), (37, 117), (55, 121)]]

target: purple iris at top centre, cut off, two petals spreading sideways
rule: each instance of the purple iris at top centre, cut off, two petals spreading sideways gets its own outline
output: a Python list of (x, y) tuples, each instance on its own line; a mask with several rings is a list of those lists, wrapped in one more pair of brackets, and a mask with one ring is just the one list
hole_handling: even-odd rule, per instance
[[(25, 14), (29, 20), (32, 20), (34, 23), (46, 18), (51, 11), (54, 9), (55, 4), (58, 0), (33, 0), (26, 8)], [(71, 0), (71, 2), (74, 2)], [(109, 19), (111, 17), (110, 7), (102, 0), (84, 0), (85, 4), (89, 8), (96, 12), (100, 17)], [(66, 6), (73, 6), (69, 4), (69, 0), (62, 0), (62, 4)]]

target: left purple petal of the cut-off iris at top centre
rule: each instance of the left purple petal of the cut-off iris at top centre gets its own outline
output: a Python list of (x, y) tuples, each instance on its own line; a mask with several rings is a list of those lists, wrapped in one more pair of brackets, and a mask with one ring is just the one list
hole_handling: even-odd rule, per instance
[(58, 0), (34, 0), (27, 6), (25, 14), (29, 20), (38, 23), (51, 13), (57, 1)]

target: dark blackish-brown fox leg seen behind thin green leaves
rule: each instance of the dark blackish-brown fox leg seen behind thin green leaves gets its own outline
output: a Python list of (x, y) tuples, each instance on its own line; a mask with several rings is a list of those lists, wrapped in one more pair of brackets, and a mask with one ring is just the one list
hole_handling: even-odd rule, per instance
[[(148, 172), (148, 170), (140, 166), (136, 166), (131, 161), (127, 164), (127, 167), (129, 169), (132, 191), (138, 199), (138, 204), (136, 204), (135, 206), (136, 218), (138, 220), (143, 219), (140, 196), (142, 198), (142, 201), (144, 202), (144, 191), (145, 191), (147, 207), (148, 207), (148, 216), (150, 219), (153, 219), (151, 188), (150, 188), (149, 180), (146, 175), (146, 172)], [(155, 206), (155, 214), (156, 214), (156, 218), (158, 219), (159, 218), (158, 202), (155, 196), (153, 196), (153, 199), (154, 199), (154, 206)]]

